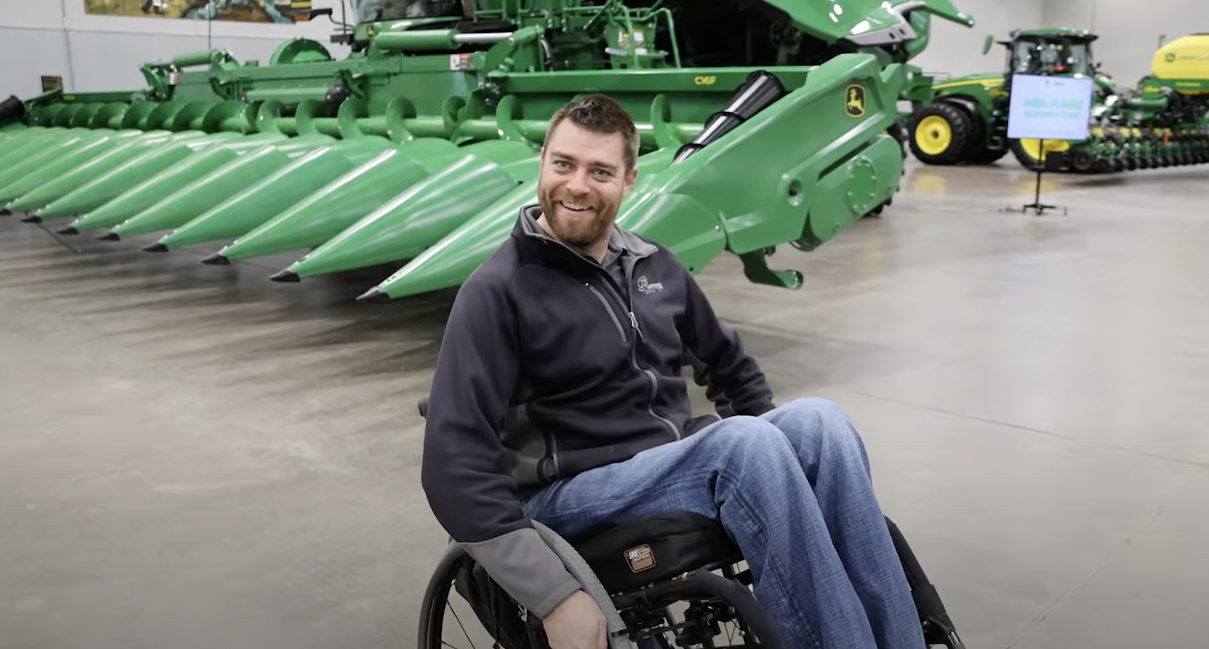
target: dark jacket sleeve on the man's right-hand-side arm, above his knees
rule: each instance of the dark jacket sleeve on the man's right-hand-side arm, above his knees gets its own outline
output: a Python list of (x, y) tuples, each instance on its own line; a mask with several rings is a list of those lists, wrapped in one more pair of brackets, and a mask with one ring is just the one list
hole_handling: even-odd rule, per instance
[[(684, 271), (684, 314), (678, 323), (681, 341), (695, 357), (698, 382), (711, 394), (721, 393), (736, 415), (763, 415), (775, 407), (773, 389), (733, 329), (718, 319), (708, 297), (688, 270)], [(711, 396), (712, 398), (712, 396)]]

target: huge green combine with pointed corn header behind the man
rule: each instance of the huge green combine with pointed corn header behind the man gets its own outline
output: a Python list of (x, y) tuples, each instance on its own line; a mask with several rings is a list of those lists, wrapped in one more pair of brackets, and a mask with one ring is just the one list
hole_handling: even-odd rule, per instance
[(62, 234), (162, 234), (147, 251), (210, 244), (213, 265), (297, 251), (282, 282), (401, 263), (361, 296), (397, 299), (490, 256), (536, 202), (550, 116), (606, 93), (642, 139), (619, 222), (693, 272), (729, 250), (751, 280), (796, 288), (767, 256), (890, 203), (897, 102), (921, 92), (908, 62), (933, 17), (973, 24), (949, 0), (353, 10), (345, 59), (291, 40), (264, 66), (198, 52), (145, 64), (144, 89), (7, 103), (0, 205)]

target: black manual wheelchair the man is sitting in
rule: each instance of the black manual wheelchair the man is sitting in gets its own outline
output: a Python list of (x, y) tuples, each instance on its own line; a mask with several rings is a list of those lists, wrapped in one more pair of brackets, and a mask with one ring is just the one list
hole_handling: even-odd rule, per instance
[[(427, 415), (427, 399), (420, 415)], [(907, 539), (889, 517), (886, 525), (927, 647), (965, 649)], [(538, 521), (533, 527), (601, 607), (609, 649), (792, 649), (756, 601), (742, 552), (716, 520), (660, 512), (575, 538), (562, 538)], [(453, 595), (467, 602), (467, 614), (453, 609)], [(472, 637), (468, 621), (484, 631)], [(527, 615), (456, 541), (429, 579), (418, 626), (417, 649), (550, 649), (540, 620)], [(450, 642), (445, 632), (467, 644)]]

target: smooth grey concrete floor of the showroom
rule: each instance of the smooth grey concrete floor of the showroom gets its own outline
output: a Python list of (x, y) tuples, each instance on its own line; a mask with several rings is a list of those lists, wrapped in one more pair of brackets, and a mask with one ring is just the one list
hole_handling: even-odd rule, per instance
[[(800, 291), (701, 282), (781, 400), (849, 408), (970, 649), (1204, 647), (1209, 168), (997, 211), (1032, 179), (912, 161), (883, 219), (773, 257)], [(0, 219), (0, 644), (413, 647), (451, 294), (69, 242)]]

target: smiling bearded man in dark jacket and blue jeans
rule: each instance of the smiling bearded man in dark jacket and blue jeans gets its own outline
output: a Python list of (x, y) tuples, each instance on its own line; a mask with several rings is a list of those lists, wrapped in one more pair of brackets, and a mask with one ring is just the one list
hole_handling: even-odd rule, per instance
[[(530, 521), (577, 535), (659, 511), (721, 521), (786, 647), (922, 649), (846, 415), (775, 407), (688, 270), (614, 224), (637, 155), (607, 97), (550, 121), (539, 204), (462, 285), (441, 342), (422, 469), (438, 521), (554, 649), (604, 649), (604, 619)], [(688, 364), (736, 416), (693, 416)]]

